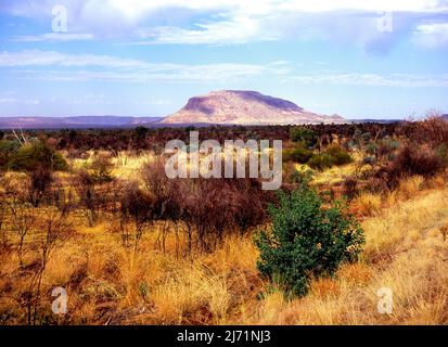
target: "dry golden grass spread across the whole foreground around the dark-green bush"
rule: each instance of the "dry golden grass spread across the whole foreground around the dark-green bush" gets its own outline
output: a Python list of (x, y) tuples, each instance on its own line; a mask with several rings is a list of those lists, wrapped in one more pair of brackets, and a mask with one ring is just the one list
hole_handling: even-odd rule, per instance
[[(123, 167), (135, 170), (141, 160), (116, 164), (116, 170), (126, 175)], [(63, 286), (68, 314), (59, 323), (65, 324), (447, 324), (447, 203), (439, 178), (411, 178), (385, 196), (358, 196), (361, 259), (333, 279), (312, 281), (309, 294), (293, 300), (259, 277), (252, 236), (229, 236), (210, 254), (182, 257), (172, 234), (159, 249), (155, 224), (132, 252), (110, 232), (106, 218), (87, 228), (74, 216), (75, 235), (55, 249), (44, 272), (42, 307), (52, 317), (51, 288)], [(36, 257), (28, 250), (26, 265)], [(1, 313), (15, 317), (7, 323), (23, 323), (15, 298), (29, 279), (15, 253), (0, 257)], [(382, 287), (393, 293), (391, 314), (376, 309)]]

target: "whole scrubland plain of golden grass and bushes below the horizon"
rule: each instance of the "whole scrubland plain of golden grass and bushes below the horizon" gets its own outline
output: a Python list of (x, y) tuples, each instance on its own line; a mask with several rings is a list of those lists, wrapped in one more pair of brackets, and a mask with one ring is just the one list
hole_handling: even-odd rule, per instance
[(283, 140), (280, 194), (168, 179), (189, 130), (3, 134), (0, 324), (448, 323), (447, 121), (201, 129)]

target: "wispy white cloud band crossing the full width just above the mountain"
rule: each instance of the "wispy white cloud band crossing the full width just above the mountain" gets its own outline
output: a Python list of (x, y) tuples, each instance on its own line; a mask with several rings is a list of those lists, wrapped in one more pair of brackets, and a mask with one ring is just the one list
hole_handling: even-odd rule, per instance
[[(296, 75), (289, 62), (276, 61), (266, 65), (215, 63), (170, 64), (111, 55), (68, 54), (56, 51), (29, 50), (1, 52), (0, 67), (15, 67), (21, 78), (53, 81), (203, 81), (219, 82), (263, 76), (278, 76), (287, 82), (305, 85), (370, 86), (370, 87), (448, 87), (448, 75), (410, 75), (373, 73), (328, 73)], [(29, 67), (29, 68), (26, 68)], [(3, 103), (11, 95), (3, 95)]]

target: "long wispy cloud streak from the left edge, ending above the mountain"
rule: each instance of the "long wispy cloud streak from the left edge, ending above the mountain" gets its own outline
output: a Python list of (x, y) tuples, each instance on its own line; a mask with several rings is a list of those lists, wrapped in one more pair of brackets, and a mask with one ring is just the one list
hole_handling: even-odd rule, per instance
[[(67, 54), (55, 51), (29, 50), (1, 52), (0, 67), (11, 68), (22, 78), (59, 81), (225, 81), (285, 74), (287, 65), (278, 62), (256, 64), (169, 64), (110, 55)], [(26, 69), (26, 67), (33, 67)]]

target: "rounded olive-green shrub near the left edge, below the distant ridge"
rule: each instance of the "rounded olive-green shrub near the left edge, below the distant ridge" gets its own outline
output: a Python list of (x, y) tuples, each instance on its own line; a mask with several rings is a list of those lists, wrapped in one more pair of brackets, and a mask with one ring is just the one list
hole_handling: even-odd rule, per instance
[(55, 171), (63, 171), (68, 168), (67, 162), (61, 153), (41, 141), (20, 147), (10, 158), (8, 166), (16, 171), (34, 171), (38, 167)]

